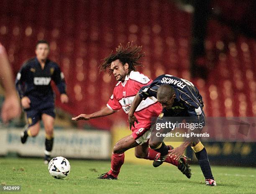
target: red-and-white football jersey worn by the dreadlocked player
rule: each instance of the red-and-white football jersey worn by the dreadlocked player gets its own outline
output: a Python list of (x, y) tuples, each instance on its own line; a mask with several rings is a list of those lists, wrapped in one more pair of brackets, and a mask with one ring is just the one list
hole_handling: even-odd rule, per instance
[[(122, 108), (128, 114), (139, 89), (151, 82), (151, 79), (140, 72), (131, 71), (130, 75), (125, 77), (123, 83), (118, 82), (116, 84), (113, 94), (110, 100), (108, 100), (108, 108), (113, 111), (118, 111)], [(146, 100), (143, 100), (134, 113), (139, 123), (135, 123), (135, 128), (132, 127), (132, 131), (139, 128), (149, 129), (151, 118), (158, 117), (161, 111), (161, 104), (157, 102), (155, 97), (148, 97)]]

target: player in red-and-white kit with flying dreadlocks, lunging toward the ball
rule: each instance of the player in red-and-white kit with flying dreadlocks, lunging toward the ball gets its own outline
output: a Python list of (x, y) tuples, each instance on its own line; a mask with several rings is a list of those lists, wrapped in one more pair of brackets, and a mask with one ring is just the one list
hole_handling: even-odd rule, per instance
[[(72, 120), (89, 120), (103, 117), (111, 115), (120, 109), (123, 109), (128, 114), (139, 89), (152, 82), (151, 79), (136, 71), (136, 66), (142, 66), (140, 62), (141, 57), (145, 56), (144, 53), (141, 53), (141, 48), (141, 46), (132, 46), (130, 43), (125, 48), (120, 45), (116, 48), (116, 54), (110, 54), (110, 56), (104, 59), (103, 64), (100, 65), (100, 70), (110, 70), (110, 73), (113, 73), (118, 81), (110, 100), (102, 110), (90, 115), (81, 114), (73, 117)], [(130, 148), (135, 147), (135, 156), (137, 158), (154, 160), (160, 156), (158, 152), (148, 148), (148, 139), (151, 135), (151, 117), (157, 117), (161, 110), (161, 105), (155, 97), (147, 98), (138, 106), (134, 113), (138, 123), (135, 123), (131, 128), (131, 135), (122, 138), (115, 144), (111, 157), (110, 171), (99, 175), (99, 179), (117, 179), (120, 168), (124, 163), (124, 152)], [(169, 149), (172, 149), (171, 145), (169, 145)], [(165, 162), (178, 166), (183, 174), (188, 178), (191, 177), (190, 168), (185, 157), (182, 157), (180, 161), (167, 157)]]

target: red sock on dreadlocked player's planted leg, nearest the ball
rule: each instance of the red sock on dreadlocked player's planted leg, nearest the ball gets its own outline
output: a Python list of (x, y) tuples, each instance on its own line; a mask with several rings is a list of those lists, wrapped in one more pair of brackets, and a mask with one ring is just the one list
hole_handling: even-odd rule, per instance
[(108, 174), (118, 177), (120, 168), (124, 163), (124, 153), (113, 153), (111, 157), (111, 169)]

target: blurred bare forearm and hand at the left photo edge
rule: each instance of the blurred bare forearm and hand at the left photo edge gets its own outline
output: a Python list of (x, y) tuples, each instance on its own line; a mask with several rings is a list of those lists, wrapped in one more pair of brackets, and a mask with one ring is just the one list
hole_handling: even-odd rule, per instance
[(5, 47), (0, 43), (0, 77), (5, 90), (5, 101), (1, 110), (4, 123), (20, 115), (20, 103), (13, 82), (13, 72), (8, 60)]

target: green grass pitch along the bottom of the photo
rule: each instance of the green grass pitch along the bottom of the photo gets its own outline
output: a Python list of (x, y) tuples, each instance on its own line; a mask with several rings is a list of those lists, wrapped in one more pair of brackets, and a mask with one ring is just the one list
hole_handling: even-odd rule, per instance
[[(166, 193), (256, 193), (255, 168), (212, 166), (218, 186), (205, 186), (199, 166), (192, 166), (187, 179), (171, 165), (154, 168), (125, 163), (118, 180), (96, 179), (110, 168), (110, 162), (70, 160), (71, 172), (65, 179), (54, 179), (40, 159), (0, 158), (0, 183), (21, 185), (18, 193), (84, 194), (166, 194)], [(9, 193), (9, 192), (6, 192)]]

